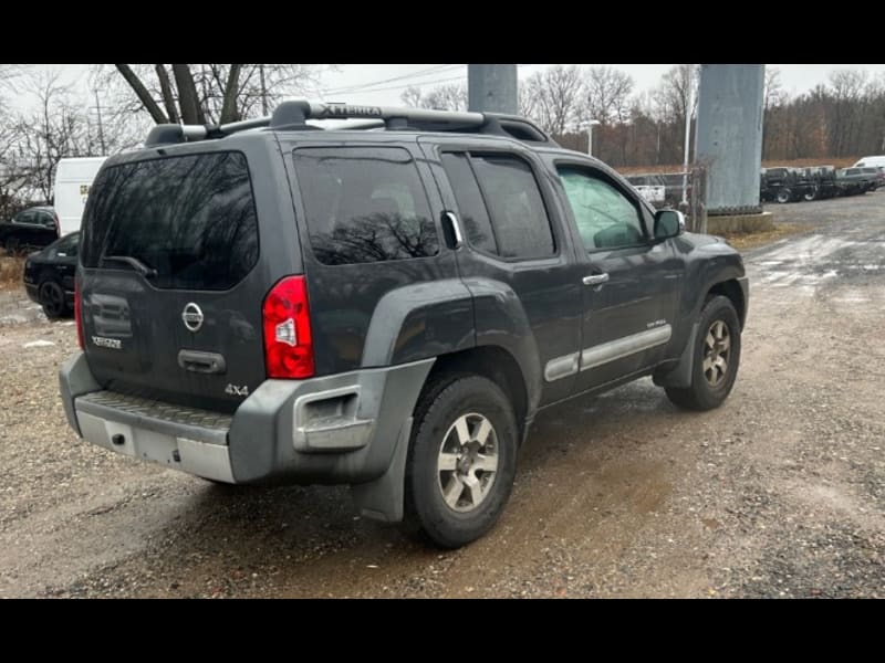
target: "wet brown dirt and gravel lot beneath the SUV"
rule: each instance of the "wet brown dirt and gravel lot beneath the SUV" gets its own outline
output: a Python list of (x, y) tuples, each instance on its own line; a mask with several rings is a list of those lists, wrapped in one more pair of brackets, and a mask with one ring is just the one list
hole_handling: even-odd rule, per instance
[[(885, 192), (778, 208), (719, 411), (650, 381), (538, 422), (500, 525), (456, 552), (343, 488), (220, 488), (82, 443), (75, 348), (0, 293), (0, 597), (884, 597)], [(35, 345), (34, 345), (35, 344)]]

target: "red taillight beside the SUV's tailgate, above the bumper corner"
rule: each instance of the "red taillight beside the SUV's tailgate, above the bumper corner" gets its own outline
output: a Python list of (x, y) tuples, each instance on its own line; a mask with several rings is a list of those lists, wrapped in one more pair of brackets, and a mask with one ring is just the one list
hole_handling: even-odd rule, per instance
[(269, 378), (313, 376), (311, 314), (304, 276), (287, 276), (264, 297), (264, 369)]

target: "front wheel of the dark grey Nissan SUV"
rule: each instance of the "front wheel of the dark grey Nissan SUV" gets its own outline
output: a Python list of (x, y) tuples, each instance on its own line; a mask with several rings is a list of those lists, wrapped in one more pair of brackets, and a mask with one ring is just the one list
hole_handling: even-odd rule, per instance
[(666, 391), (674, 404), (704, 412), (725, 402), (738, 377), (741, 329), (731, 301), (721, 296), (709, 299), (700, 312), (698, 328), (691, 386)]

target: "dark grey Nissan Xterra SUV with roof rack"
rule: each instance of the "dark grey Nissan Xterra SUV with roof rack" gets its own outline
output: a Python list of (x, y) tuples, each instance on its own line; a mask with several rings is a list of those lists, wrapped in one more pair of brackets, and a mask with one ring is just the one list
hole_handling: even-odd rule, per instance
[[(306, 122), (330, 118), (369, 122)], [(288, 102), (106, 161), (61, 391), (93, 443), (350, 484), (456, 547), (500, 515), (539, 411), (644, 376), (719, 406), (747, 303), (725, 241), (527, 119)]]

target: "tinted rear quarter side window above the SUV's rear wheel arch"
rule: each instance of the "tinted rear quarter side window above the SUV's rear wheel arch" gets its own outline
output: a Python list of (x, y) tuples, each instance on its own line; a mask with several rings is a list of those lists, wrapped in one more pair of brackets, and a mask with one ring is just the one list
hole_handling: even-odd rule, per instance
[(325, 265), (439, 252), (427, 193), (398, 147), (302, 148), (295, 173), (313, 254)]

